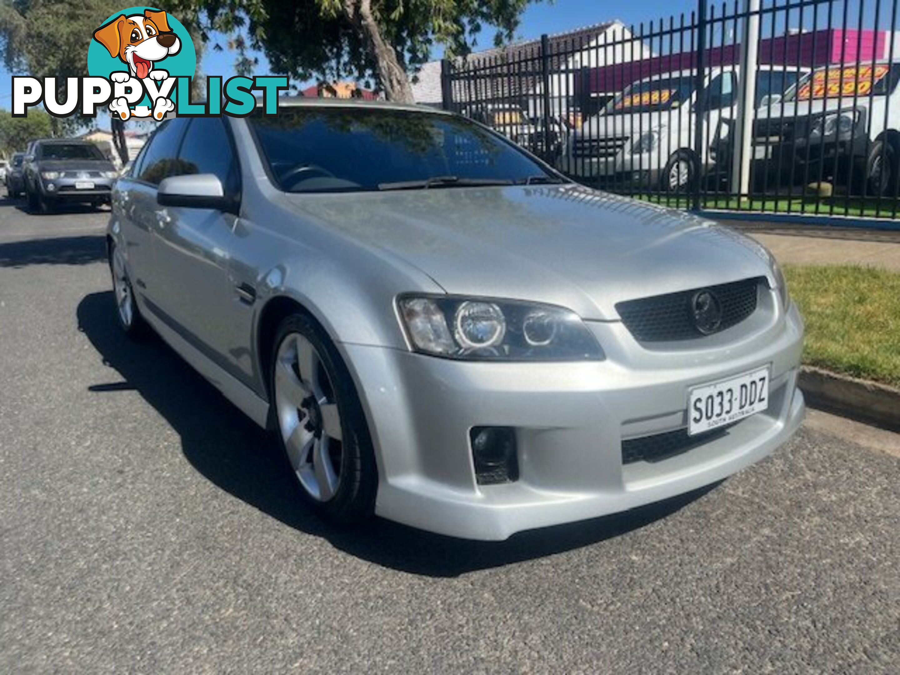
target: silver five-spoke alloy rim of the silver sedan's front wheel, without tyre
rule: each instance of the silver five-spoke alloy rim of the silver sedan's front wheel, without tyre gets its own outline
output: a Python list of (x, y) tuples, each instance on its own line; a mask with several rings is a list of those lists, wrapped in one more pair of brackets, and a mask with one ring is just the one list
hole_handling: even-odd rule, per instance
[(340, 412), (319, 352), (300, 333), (278, 346), (274, 389), (278, 429), (297, 480), (313, 500), (331, 500), (343, 465)]

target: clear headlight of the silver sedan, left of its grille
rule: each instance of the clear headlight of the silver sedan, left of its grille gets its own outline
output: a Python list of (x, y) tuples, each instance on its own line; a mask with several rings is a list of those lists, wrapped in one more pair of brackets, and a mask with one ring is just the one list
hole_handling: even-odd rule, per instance
[(424, 354), (488, 361), (598, 361), (597, 340), (554, 305), (449, 295), (401, 297), (401, 322)]

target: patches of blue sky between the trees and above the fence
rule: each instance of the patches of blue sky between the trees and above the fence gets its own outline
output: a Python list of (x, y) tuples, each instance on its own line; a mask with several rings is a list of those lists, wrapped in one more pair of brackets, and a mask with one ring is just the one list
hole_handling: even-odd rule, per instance
[[(569, 31), (591, 23), (601, 23), (611, 19), (620, 19), (625, 23), (640, 23), (659, 19), (674, 12), (690, 12), (697, 6), (696, 0), (642, 0), (642, 2), (616, 3), (605, 0), (556, 0), (554, 4), (540, 3), (530, 5), (523, 15), (522, 25), (517, 34), (518, 39), (531, 40), (542, 33)], [(486, 27), (479, 36), (476, 49), (492, 46), (494, 31)], [(227, 48), (228, 40), (224, 35), (213, 36), (223, 48)], [(259, 54), (260, 64), (257, 75), (269, 73), (266, 58)], [(439, 53), (435, 54), (436, 57)], [(85, 55), (86, 58), (86, 55)], [(234, 75), (234, 52), (229, 49), (214, 51), (206, 49), (202, 58), (202, 71), (208, 75)], [(13, 74), (0, 66), (0, 107), (9, 108), (11, 99), (11, 81)], [(296, 83), (301, 84), (301, 83)], [(98, 118), (98, 121), (100, 119)], [(101, 121), (107, 126), (107, 121)]]

